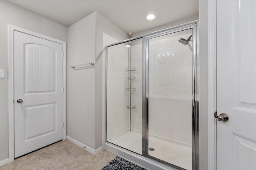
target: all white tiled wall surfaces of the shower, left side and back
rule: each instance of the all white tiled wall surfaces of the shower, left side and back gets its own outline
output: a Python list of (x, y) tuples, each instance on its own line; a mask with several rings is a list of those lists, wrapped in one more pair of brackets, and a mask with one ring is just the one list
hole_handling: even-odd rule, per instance
[[(192, 144), (192, 52), (187, 46), (178, 42), (179, 38), (187, 38), (191, 34), (158, 38), (149, 45), (149, 133), (167, 139)], [(111, 37), (106, 36), (106, 41)], [(111, 41), (111, 40), (110, 40)], [(110, 42), (114, 43), (114, 42)], [(114, 41), (112, 39), (112, 41)], [(106, 45), (105, 44), (105, 45)], [(104, 45), (104, 46), (105, 46)], [(123, 47), (125, 50), (125, 47)], [(112, 138), (122, 133), (129, 127), (129, 114), (125, 105), (129, 103), (128, 87), (125, 80), (124, 68), (127, 67), (127, 59), (120, 56), (128, 56), (121, 49), (108, 51), (108, 113), (107, 125), (108, 137)], [(158, 58), (158, 55), (174, 53), (175, 57)], [(103, 65), (105, 57), (103, 57)], [(122, 64), (124, 63), (124, 64)], [(142, 45), (134, 44), (131, 47), (131, 66), (136, 67), (131, 80), (132, 104), (132, 129), (142, 131)], [(103, 75), (105, 66), (103, 67)], [(105, 76), (102, 80), (105, 81)], [(105, 92), (103, 84), (102, 90)], [(103, 106), (104, 102), (103, 101)], [(104, 111), (105, 112), (105, 111)], [(103, 113), (104, 113), (103, 112)], [(106, 117), (104, 117), (106, 119)], [(104, 129), (105, 131), (105, 129)]]

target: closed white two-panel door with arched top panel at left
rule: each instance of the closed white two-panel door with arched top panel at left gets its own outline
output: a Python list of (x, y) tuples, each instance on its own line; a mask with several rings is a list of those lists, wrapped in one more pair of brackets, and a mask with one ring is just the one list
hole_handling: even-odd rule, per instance
[(62, 44), (14, 31), (14, 158), (62, 140), (62, 53)]

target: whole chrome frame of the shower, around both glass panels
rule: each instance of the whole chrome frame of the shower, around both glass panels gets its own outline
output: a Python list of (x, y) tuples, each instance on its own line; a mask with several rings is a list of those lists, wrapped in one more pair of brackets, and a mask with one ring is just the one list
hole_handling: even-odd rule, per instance
[(175, 33), (178, 31), (184, 31), (186, 29), (192, 28), (192, 34), (193, 34), (193, 66), (192, 66), (192, 72), (193, 72), (193, 84), (192, 84), (192, 90), (193, 90), (193, 101), (192, 101), (192, 170), (198, 170), (199, 169), (199, 38), (198, 38), (198, 21), (192, 21), (189, 23), (177, 25), (174, 27), (170, 27), (167, 29), (162, 29), (160, 31), (155, 31), (153, 33), (141, 35), (138, 37), (134, 37), (131, 39), (126, 39), (124, 41), (120, 41), (117, 43), (113, 43), (106, 46), (106, 144), (114, 145), (118, 148), (125, 149), (127, 151), (130, 151), (126, 148), (120, 147), (116, 144), (108, 142), (107, 138), (107, 86), (108, 86), (108, 47), (126, 43), (132, 40), (140, 39), (142, 38), (142, 154), (138, 154), (136, 152), (130, 151), (133, 154), (136, 154), (138, 156), (142, 156), (144, 158), (150, 158), (152, 160), (156, 160), (157, 162), (160, 162), (162, 164), (171, 166), (173, 168), (176, 168), (178, 170), (184, 170), (184, 168), (181, 168), (179, 166), (176, 166), (174, 164), (170, 164), (168, 162), (165, 162), (163, 160), (160, 160), (158, 158), (155, 158), (153, 156), (148, 155), (148, 40), (160, 37), (163, 35), (167, 35), (170, 33)]

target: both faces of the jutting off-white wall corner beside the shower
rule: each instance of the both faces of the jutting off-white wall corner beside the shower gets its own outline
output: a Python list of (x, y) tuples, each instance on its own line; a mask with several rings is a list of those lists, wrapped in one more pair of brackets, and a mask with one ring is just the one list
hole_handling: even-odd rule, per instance
[[(100, 13), (93, 12), (68, 27), (67, 135), (92, 149), (102, 146), (102, 34), (118, 41), (127, 34)], [(95, 66), (73, 70), (72, 64)], [(105, 133), (105, 131), (104, 131)]]

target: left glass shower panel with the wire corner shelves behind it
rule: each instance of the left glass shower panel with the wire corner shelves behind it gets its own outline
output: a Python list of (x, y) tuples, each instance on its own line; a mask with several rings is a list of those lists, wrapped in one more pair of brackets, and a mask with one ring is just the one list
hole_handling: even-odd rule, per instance
[(107, 141), (142, 154), (142, 38), (107, 48)]

